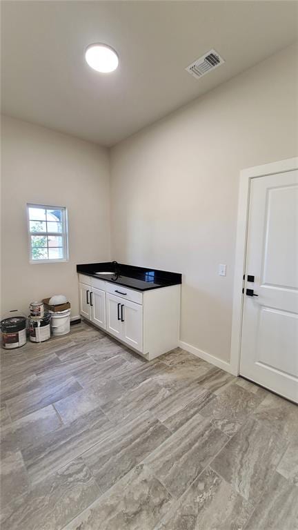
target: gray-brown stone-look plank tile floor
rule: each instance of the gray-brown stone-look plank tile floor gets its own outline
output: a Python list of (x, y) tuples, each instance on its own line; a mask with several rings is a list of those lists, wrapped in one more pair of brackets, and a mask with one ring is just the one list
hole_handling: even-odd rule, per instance
[(1, 351), (1, 530), (297, 530), (298, 407), (79, 324)]

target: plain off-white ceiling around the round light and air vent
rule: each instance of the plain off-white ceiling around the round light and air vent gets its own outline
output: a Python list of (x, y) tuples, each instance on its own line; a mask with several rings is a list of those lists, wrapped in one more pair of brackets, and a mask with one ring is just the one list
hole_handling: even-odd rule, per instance
[[(3, 1), (2, 112), (105, 146), (297, 39), (296, 1)], [(116, 72), (84, 60), (119, 53)], [(215, 48), (226, 63), (184, 68)]]

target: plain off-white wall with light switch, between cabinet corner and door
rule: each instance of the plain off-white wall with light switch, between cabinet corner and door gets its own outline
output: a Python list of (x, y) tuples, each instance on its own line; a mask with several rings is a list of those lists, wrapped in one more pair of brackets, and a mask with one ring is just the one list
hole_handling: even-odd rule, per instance
[(111, 151), (113, 259), (183, 273), (181, 340), (222, 360), (239, 171), (297, 155), (297, 94), (292, 46)]

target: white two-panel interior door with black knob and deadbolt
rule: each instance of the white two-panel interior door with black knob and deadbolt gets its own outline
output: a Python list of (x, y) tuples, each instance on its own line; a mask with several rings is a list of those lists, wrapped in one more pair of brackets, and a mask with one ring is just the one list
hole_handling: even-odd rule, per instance
[(298, 402), (297, 170), (251, 182), (240, 374)]

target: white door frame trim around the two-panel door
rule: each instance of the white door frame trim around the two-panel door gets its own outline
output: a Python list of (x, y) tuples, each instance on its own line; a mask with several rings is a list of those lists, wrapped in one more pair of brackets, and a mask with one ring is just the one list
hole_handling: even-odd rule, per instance
[(298, 169), (298, 157), (288, 158), (271, 164), (263, 164), (244, 169), (240, 172), (238, 214), (237, 214), (237, 236), (235, 248), (235, 272), (232, 302), (232, 337), (230, 349), (230, 372), (239, 375), (241, 355), (241, 332), (242, 316), (244, 306), (244, 274), (246, 264), (246, 244), (248, 233), (248, 213), (250, 199), (251, 179), (275, 175), (276, 173), (287, 173)]

